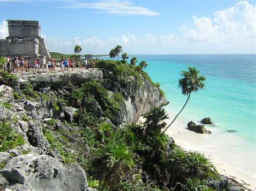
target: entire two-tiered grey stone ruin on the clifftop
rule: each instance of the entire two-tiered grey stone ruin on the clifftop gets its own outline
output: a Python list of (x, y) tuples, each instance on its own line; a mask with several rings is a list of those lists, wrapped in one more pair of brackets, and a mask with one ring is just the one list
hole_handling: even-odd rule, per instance
[(50, 58), (50, 53), (41, 38), (41, 27), (34, 20), (8, 20), (9, 37), (0, 39), (0, 55), (19, 56), (24, 59)]

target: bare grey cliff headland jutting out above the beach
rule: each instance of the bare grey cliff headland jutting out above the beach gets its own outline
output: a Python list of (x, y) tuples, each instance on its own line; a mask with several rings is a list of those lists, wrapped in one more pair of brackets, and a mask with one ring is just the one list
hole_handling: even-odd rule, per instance
[[(105, 74), (105, 72), (104, 72)], [(111, 119), (118, 127), (127, 122), (137, 122), (139, 117), (145, 115), (153, 107), (163, 107), (169, 101), (162, 96), (157, 87), (152, 86), (149, 80), (142, 84), (135, 77), (130, 76), (126, 87), (119, 81), (107, 81), (105, 88), (113, 92), (120, 92), (124, 97), (122, 109), (120, 109)]]

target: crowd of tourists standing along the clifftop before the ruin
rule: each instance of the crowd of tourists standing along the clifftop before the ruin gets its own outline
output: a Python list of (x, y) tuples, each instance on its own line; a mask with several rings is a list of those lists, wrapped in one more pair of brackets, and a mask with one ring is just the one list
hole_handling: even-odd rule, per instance
[(40, 70), (42, 70), (42, 72), (47, 72), (47, 67), (48, 72), (52, 72), (53, 70), (55, 70), (55, 68), (60, 68), (61, 72), (71, 69), (74, 70), (75, 68), (94, 69), (95, 59), (93, 59), (92, 63), (90, 63), (89, 60), (86, 59), (75, 61), (75, 59), (64, 58), (62, 60), (56, 61), (55, 59), (51, 58), (48, 61), (46, 61), (46, 63), (44, 63), (44, 61), (39, 60), (39, 58), (30, 60), (24, 59), (22, 55), (20, 55), (19, 57), (7, 56), (4, 69), (7, 70), (9, 73), (23, 73), (30, 71), (39, 72)]

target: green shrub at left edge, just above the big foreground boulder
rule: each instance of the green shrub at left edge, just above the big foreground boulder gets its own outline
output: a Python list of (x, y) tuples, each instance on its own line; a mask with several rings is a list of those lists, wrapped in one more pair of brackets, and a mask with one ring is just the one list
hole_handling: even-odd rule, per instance
[(25, 140), (22, 135), (10, 128), (9, 123), (0, 123), (0, 152), (5, 152), (24, 144)]

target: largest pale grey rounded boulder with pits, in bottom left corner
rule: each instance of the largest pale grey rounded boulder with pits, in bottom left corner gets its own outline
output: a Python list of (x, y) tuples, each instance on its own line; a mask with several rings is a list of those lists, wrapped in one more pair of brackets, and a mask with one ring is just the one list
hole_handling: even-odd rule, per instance
[(64, 165), (48, 155), (25, 154), (12, 158), (0, 171), (13, 190), (86, 190), (84, 170)]

